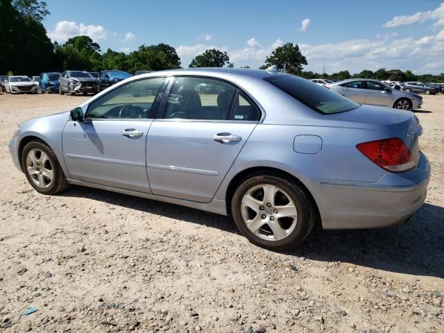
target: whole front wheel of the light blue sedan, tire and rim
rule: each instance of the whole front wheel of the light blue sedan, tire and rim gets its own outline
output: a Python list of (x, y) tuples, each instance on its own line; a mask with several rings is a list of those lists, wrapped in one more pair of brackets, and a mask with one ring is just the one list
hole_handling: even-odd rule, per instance
[(22, 166), (28, 182), (41, 194), (57, 194), (69, 186), (56, 155), (43, 142), (31, 141), (24, 146)]

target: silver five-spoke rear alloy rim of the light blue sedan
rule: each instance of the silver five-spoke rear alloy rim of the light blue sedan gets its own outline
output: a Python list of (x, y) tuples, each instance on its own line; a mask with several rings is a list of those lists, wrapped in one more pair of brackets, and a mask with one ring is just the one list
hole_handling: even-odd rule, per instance
[(253, 234), (268, 241), (288, 237), (298, 221), (291, 196), (270, 184), (256, 185), (246, 191), (241, 200), (241, 216)]

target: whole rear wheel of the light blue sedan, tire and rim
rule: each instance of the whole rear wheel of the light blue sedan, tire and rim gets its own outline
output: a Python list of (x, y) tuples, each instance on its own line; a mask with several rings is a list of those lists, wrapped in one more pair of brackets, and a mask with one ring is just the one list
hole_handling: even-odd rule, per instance
[[(266, 191), (274, 193), (271, 205), (264, 200)], [(283, 213), (284, 206), (287, 207), (286, 213)], [(250, 175), (239, 182), (231, 200), (231, 213), (239, 232), (251, 243), (278, 251), (291, 250), (300, 244), (308, 236), (318, 216), (316, 205), (304, 189), (278, 173), (264, 172)], [(280, 214), (288, 215), (278, 217)], [(251, 221), (250, 227), (245, 220)], [(255, 226), (260, 225), (256, 232), (250, 230), (254, 228), (254, 222)]]

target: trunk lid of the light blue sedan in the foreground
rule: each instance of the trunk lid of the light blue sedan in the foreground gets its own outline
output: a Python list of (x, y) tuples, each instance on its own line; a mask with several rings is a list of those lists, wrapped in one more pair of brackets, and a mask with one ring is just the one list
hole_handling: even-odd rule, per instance
[(387, 126), (392, 130), (393, 136), (402, 139), (409, 148), (413, 148), (417, 137), (422, 133), (422, 127), (419, 125), (418, 118), (411, 111), (361, 105), (354, 110), (330, 114), (329, 117)]

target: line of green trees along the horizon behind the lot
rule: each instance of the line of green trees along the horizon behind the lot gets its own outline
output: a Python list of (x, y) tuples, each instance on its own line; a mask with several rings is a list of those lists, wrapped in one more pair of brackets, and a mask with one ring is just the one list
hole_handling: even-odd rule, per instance
[[(182, 68), (176, 49), (168, 44), (141, 45), (135, 51), (126, 54), (107, 49), (90, 37), (81, 35), (71, 37), (67, 42), (52, 43), (46, 35), (42, 24), (49, 15), (46, 3), (39, 0), (0, 0), (0, 74), (40, 74), (42, 71), (65, 71), (77, 69), (101, 71), (119, 69), (133, 74), (137, 70), (160, 71), (162, 69)], [(333, 74), (319, 74), (304, 71), (308, 65), (298, 44), (287, 43), (277, 47), (266, 57), (262, 69), (271, 65), (278, 66), (280, 71), (303, 78), (374, 78), (377, 80), (444, 82), (444, 73), (440, 75), (413, 74), (410, 70), (400, 69), (377, 71), (364, 69), (360, 73), (350, 74), (339, 71)], [(188, 67), (234, 67), (228, 53), (209, 49), (196, 56)], [(250, 68), (245, 66), (244, 68)]]

